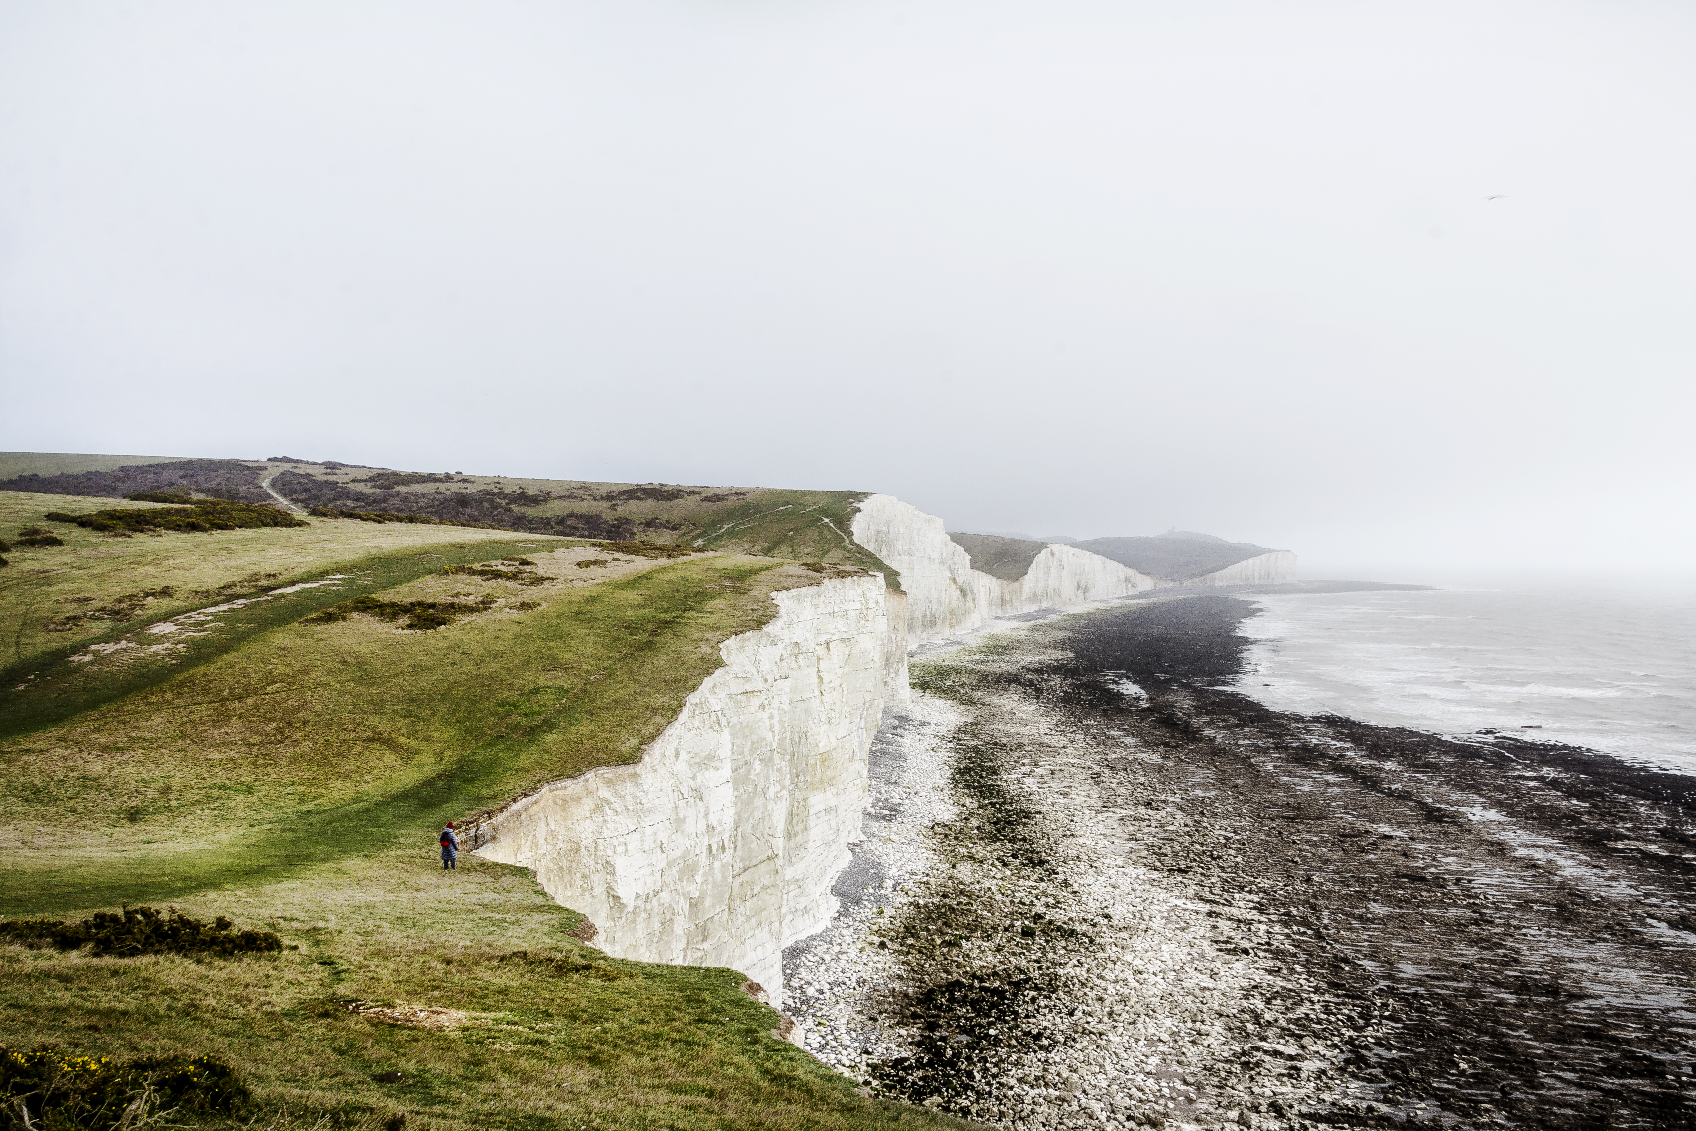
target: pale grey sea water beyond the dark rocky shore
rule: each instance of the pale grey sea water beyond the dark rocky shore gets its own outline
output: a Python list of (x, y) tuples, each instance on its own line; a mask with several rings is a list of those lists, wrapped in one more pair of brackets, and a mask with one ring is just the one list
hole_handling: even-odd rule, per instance
[(1509, 731), (1696, 775), (1696, 580), (1250, 597), (1238, 687), (1277, 710)]

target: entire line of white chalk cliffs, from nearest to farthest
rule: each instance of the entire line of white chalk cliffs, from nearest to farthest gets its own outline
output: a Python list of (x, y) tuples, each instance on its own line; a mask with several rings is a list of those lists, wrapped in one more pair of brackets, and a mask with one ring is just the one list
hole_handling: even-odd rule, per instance
[[(899, 590), (851, 577), (773, 593), (778, 616), (719, 646), (724, 666), (639, 761), (514, 800), (468, 831), (471, 848), (533, 868), (595, 922), (609, 955), (731, 967), (782, 1007), (784, 948), (834, 914), (872, 738), (884, 704), (907, 695), (907, 649), (996, 617), (1174, 583), (1060, 544), (1021, 548), (1023, 577), (992, 577), (941, 519), (890, 495), (865, 497), (850, 531), (895, 570)], [(1269, 583), (1294, 570), (1294, 554), (1272, 551), (1186, 583)]]

